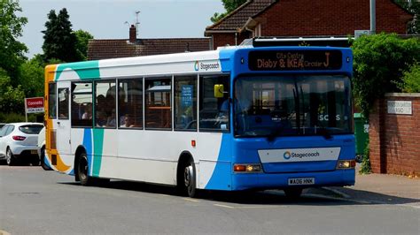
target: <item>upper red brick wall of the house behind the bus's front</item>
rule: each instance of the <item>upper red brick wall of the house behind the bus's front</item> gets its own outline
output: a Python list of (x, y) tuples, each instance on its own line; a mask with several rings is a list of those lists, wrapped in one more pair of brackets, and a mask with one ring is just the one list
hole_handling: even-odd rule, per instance
[[(392, 0), (377, 0), (376, 10), (377, 33), (407, 33), (409, 15)], [(353, 35), (370, 28), (369, 0), (283, 0), (261, 18), (264, 36)]]

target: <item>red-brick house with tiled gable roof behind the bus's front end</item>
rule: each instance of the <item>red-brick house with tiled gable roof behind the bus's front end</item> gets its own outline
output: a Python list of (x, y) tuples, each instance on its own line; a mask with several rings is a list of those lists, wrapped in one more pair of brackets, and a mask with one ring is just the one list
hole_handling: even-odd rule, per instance
[[(206, 27), (212, 48), (237, 45), (252, 37), (317, 37), (354, 35), (369, 30), (368, 0), (248, 0)], [(377, 33), (407, 34), (413, 18), (393, 0), (376, 0)]]

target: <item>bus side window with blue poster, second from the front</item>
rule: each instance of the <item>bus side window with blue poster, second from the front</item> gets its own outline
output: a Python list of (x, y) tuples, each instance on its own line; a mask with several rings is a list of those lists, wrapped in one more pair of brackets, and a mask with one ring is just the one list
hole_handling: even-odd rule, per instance
[(175, 130), (197, 130), (197, 76), (175, 77)]

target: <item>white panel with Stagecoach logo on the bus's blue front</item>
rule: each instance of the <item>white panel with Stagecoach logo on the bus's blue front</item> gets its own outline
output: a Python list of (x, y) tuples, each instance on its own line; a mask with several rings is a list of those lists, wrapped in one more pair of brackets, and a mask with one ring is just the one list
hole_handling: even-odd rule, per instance
[(261, 163), (292, 163), (337, 160), (341, 148), (289, 148), (258, 150)]

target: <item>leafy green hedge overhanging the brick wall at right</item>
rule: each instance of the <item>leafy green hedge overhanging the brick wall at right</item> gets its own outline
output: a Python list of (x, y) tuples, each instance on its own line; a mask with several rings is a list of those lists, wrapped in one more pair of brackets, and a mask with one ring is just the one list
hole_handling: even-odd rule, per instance
[(354, 100), (369, 118), (373, 102), (385, 93), (401, 92), (403, 72), (420, 61), (420, 40), (397, 34), (374, 34), (354, 41)]

